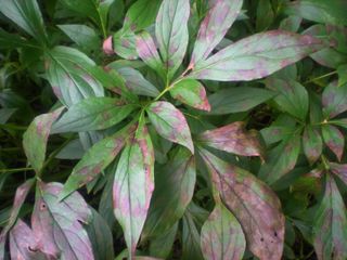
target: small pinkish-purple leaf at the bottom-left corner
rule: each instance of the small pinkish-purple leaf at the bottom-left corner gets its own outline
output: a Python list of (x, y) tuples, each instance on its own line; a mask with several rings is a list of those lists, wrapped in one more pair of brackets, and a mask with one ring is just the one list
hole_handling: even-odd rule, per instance
[(34, 233), (30, 227), (17, 220), (16, 224), (10, 232), (10, 251), (11, 259), (17, 260), (44, 260), (47, 257), (42, 253), (35, 239)]

